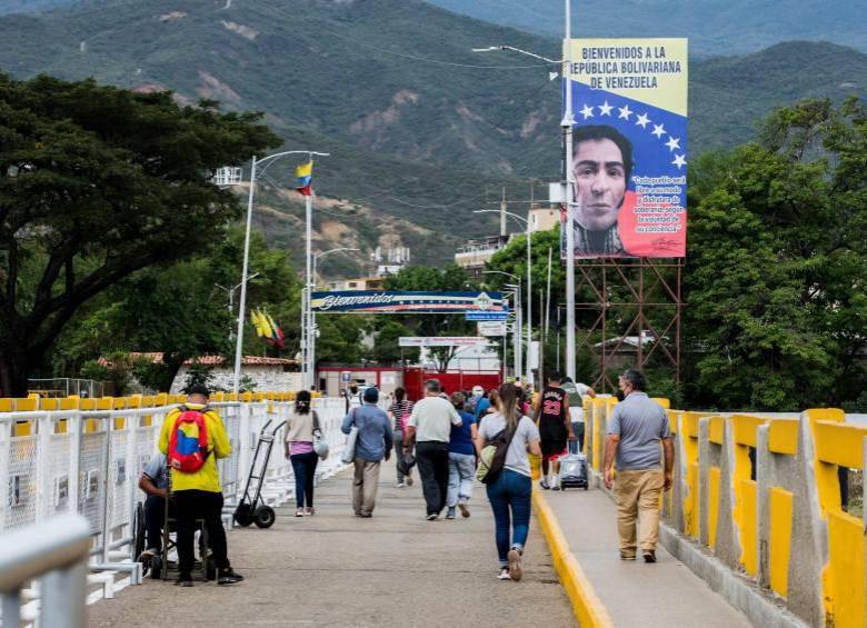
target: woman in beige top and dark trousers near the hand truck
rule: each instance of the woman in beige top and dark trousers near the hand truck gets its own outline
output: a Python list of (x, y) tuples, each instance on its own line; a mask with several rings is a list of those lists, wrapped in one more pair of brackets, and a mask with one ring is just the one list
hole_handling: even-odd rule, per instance
[(295, 412), (286, 422), (286, 458), (295, 475), (295, 516), (316, 514), (313, 482), (319, 456), (313, 451), (313, 430), (319, 417), (310, 408), (310, 391), (299, 390), (295, 397)]

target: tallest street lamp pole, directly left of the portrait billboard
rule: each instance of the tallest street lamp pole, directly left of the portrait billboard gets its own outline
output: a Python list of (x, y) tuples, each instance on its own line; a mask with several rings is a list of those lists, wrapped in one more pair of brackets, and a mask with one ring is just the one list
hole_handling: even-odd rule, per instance
[(572, 39), (572, 9), (571, 0), (564, 0), (564, 58), (559, 61), (547, 59), (540, 54), (521, 50), (511, 46), (491, 46), (488, 48), (474, 48), (474, 52), (492, 52), (497, 50), (511, 50), (520, 54), (527, 54), (536, 59), (562, 64), (562, 78), (566, 82), (566, 102), (560, 128), (564, 134), (564, 198), (566, 199), (566, 375), (575, 380), (575, 173), (572, 172), (572, 89), (571, 89), (571, 39)]

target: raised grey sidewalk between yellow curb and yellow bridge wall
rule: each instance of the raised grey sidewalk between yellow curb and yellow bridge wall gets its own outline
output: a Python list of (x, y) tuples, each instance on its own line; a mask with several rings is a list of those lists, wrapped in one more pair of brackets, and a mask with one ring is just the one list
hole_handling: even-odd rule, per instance
[(704, 580), (657, 548), (658, 562), (621, 561), (617, 510), (599, 489), (546, 491), (569, 549), (578, 559), (615, 626), (739, 628), (747, 618)]

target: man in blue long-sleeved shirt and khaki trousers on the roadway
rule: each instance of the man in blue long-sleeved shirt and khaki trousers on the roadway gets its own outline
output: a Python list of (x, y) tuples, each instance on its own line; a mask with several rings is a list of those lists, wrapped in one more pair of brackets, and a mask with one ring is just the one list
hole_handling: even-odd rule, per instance
[(355, 478), (352, 480), (352, 510), (356, 517), (373, 516), (379, 488), (379, 468), (382, 459), (391, 457), (395, 437), (388, 415), (377, 407), (379, 390), (375, 387), (365, 389), (363, 403), (352, 408), (343, 417), (341, 430), (349, 433), (358, 428), (356, 438), (356, 455), (353, 459)]

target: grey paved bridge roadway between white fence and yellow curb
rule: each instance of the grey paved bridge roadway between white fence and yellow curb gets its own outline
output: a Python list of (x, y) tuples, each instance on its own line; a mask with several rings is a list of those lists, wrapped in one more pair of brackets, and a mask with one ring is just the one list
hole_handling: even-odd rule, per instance
[(148, 579), (89, 607), (90, 627), (575, 626), (545, 540), (532, 528), (520, 582), (498, 581), (494, 521), (477, 486), (469, 520), (423, 520), (418, 478), (393, 488), (380, 476), (371, 519), (352, 516), (347, 472), (318, 488), (316, 517), (278, 510), (269, 530), (229, 532), (247, 580), (192, 589)]

